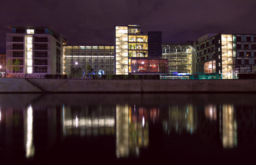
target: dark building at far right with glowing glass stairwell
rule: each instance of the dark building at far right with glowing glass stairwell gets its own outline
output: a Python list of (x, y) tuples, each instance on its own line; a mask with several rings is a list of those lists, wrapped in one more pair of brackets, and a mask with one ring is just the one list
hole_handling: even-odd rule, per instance
[(256, 34), (207, 34), (194, 42), (194, 50), (196, 73), (222, 79), (256, 73)]

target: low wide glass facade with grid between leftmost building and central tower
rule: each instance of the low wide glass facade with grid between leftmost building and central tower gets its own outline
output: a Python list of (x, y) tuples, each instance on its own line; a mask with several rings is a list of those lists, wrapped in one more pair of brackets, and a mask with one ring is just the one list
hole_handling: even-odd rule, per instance
[(83, 76), (92, 68), (96, 74), (114, 74), (114, 46), (63, 46), (63, 73), (80, 68)]

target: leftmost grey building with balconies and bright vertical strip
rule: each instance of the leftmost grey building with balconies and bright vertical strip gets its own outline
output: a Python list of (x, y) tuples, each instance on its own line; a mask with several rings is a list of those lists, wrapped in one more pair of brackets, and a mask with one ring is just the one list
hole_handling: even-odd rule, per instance
[(60, 34), (48, 27), (8, 27), (12, 33), (6, 37), (7, 63), (18, 61), (18, 65), (7, 70), (8, 77), (44, 78), (46, 74), (62, 74), (65, 40)]

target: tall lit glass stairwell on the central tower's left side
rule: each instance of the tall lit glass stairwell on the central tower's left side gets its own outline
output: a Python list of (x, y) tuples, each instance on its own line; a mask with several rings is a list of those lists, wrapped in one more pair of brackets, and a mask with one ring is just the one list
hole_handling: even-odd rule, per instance
[(116, 26), (116, 74), (128, 74), (128, 27)]

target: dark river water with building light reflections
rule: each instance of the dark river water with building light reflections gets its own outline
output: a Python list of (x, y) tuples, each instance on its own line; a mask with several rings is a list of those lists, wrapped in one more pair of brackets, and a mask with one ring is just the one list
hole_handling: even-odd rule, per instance
[(254, 164), (255, 94), (0, 94), (0, 164)]

